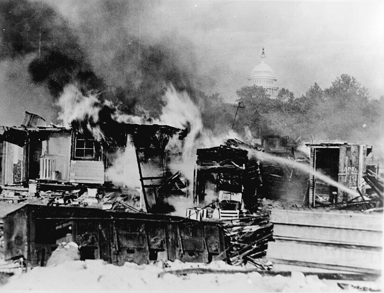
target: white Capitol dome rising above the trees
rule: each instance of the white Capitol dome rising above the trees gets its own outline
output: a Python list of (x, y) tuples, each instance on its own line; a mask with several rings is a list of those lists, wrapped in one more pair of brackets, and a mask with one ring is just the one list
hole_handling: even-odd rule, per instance
[(265, 63), (266, 56), (264, 47), (260, 58), (260, 64), (253, 68), (251, 76), (248, 77), (249, 85), (262, 86), (266, 90), (266, 93), (269, 94), (272, 99), (275, 99), (279, 88), (276, 86), (276, 77), (272, 68)]

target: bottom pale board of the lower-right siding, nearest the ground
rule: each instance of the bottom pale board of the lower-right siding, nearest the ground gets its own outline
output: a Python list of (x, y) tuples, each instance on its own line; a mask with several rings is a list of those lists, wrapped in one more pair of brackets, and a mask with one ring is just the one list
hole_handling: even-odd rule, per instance
[(377, 271), (381, 269), (381, 255), (381, 250), (378, 249), (362, 250), (355, 249), (353, 246), (345, 248), (336, 245), (312, 245), (310, 242), (276, 240), (268, 243), (266, 257)]

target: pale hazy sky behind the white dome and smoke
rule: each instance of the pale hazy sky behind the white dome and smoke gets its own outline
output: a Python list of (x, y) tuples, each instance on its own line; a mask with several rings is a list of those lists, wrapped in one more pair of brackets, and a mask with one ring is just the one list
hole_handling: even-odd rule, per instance
[[(46, 0), (41, 8), (46, 5), (62, 16), (86, 61), (111, 86), (125, 82), (130, 66), (124, 58), (116, 63), (117, 54), (138, 41), (170, 49), (193, 86), (228, 102), (247, 85), (263, 47), (277, 86), (296, 97), (315, 82), (327, 88), (344, 73), (372, 98), (384, 95), (383, 1)], [(0, 125), (20, 124), (24, 110), (48, 120), (56, 115), (47, 89), (28, 76), (33, 58), (0, 61)]]

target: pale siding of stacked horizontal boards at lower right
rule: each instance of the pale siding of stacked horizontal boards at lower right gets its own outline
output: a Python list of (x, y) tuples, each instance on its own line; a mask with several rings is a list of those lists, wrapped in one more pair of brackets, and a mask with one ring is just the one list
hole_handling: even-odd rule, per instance
[[(379, 273), (382, 215), (355, 211), (272, 210), (275, 242), (267, 258), (280, 264), (359, 273)], [(297, 269), (297, 268), (296, 268)]]

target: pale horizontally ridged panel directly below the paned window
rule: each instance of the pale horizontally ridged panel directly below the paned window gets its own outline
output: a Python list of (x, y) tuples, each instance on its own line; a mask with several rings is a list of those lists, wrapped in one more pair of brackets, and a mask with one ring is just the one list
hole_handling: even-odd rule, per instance
[(103, 162), (71, 160), (70, 182), (104, 184)]

